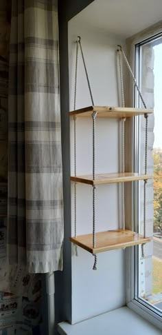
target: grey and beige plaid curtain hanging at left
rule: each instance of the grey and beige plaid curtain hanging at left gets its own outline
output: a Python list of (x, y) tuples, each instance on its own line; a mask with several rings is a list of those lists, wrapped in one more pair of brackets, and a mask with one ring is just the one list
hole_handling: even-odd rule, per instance
[(8, 258), (62, 270), (63, 201), (56, 0), (12, 0)]

